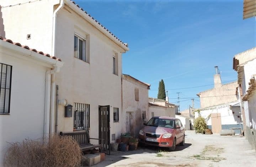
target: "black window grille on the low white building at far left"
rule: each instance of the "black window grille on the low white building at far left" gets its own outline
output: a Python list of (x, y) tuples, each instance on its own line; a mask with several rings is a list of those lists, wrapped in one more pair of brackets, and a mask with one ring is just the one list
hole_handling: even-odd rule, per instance
[(12, 66), (0, 63), (0, 114), (10, 113)]

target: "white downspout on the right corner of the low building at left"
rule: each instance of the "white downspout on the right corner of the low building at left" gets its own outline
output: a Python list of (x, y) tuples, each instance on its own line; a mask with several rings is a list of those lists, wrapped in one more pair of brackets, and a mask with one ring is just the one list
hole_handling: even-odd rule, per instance
[[(60, 67), (58, 67), (57, 65), (54, 65), (54, 69), (46, 71), (45, 96), (44, 96), (44, 129), (43, 129), (44, 141), (46, 138), (48, 138), (48, 135), (50, 134), (50, 125), (53, 125), (53, 123), (50, 122), (51, 75), (54, 73), (58, 73), (59, 70), (60, 70)], [(55, 88), (52, 89), (52, 92), (53, 91), (55, 92)], [(53, 114), (53, 117), (54, 117), (54, 114)]]

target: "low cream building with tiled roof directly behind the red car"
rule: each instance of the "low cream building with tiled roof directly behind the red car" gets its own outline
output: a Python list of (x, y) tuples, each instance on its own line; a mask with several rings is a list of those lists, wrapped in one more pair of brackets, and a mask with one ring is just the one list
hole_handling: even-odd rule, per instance
[(149, 100), (148, 119), (150, 119), (153, 116), (175, 117), (175, 113), (177, 112), (177, 108), (178, 108), (178, 106), (176, 106), (175, 104), (171, 104), (165, 100), (151, 98), (151, 97), (149, 97), (148, 100)]

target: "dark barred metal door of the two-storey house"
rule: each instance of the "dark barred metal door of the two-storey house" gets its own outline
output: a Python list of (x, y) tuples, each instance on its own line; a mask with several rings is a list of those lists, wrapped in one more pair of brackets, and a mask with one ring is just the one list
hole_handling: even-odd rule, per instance
[(99, 138), (102, 152), (110, 154), (110, 106), (99, 106)]

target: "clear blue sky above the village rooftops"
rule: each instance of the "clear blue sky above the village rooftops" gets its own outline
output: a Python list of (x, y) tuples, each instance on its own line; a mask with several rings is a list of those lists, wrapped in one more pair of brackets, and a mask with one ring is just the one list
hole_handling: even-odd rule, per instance
[[(242, 19), (242, 0), (75, 2), (129, 44), (123, 73), (151, 84), (150, 97), (164, 79), (174, 103), (176, 92), (188, 98), (212, 88), (216, 65), (223, 82), (234, 81), (233, 56), (256, 46), (255, 18)], [(203, 85), (209, 86), (174, 90)], [(191, 104), (181, 100), (181, 110)]]

